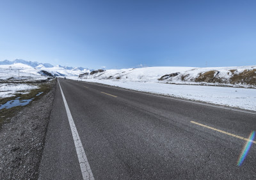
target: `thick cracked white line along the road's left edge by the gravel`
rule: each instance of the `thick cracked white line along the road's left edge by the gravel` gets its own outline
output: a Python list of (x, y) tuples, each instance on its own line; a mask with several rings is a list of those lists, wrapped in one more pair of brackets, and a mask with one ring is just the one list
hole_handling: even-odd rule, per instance
[[(59, 80), (58, 80), (58, 83), (60, 85)], [(74, 140), (74, 143), (75, 143), (77, 158), (79, 160), (79, 164), (80, 164), (81, 172), (82, 172), (82, 175), (83, 175), (83, 179), (90, 179), (90, 180), (92, 179), (93, 180), (94, 177), (93, 177), (93, 174), (92, 174), (92, 170), (90, 168), (89, 162), (88, 162), (86, 154), (84, 152), (83, 144), (82, 144), (82, 142), (80, 140), (80, 137), (78, 135), (76, 125), (73, 121), (73, 117), (72, 117), (71, 112), (68, 108), (68, 103), (67, 103), (66, 98), (63, 94), (61, 86), (60, 86), (60, 91), (61, 91), (62, 98), (63, 98), (65, 108), (66, 108), (66, 111), (67, 111), (68, 122), (69, 122), (70, 129), (71, 129), (71, 132), (72, 132), (72, 137), (73, 137), (73, 140)]]

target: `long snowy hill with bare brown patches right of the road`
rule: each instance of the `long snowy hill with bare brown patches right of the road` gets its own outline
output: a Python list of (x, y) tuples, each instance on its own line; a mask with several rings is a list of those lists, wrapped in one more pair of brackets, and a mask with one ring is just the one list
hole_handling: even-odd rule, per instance
[(130, 68), (91, 73), (83, 79), (256, 87), (256, 66)]

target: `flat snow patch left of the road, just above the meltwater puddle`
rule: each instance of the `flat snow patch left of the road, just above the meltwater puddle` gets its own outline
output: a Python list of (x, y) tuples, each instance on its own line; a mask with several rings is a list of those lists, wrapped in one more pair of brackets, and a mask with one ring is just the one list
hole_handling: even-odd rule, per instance
[(29, 90), (37, 88), (39, 87), (29, 84), (2, 83), (0, 84), (0, 98), (12, 97), (16, 93), (27, 94)]

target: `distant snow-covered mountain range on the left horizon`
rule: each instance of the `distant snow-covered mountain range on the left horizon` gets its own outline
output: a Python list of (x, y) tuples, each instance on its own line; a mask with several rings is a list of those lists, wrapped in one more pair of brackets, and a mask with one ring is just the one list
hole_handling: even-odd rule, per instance
[(0, 61), (0, 79), (3, 77), (19, 76), (40, 76), (42, 70), (52, 73), (54, 76), (78, 76), (81, 73), (90, 72), (88, 68), (68, 67), (68, 66), (52, 66), (49, 63), (38, 63), (15, 59), (14, 61)]

